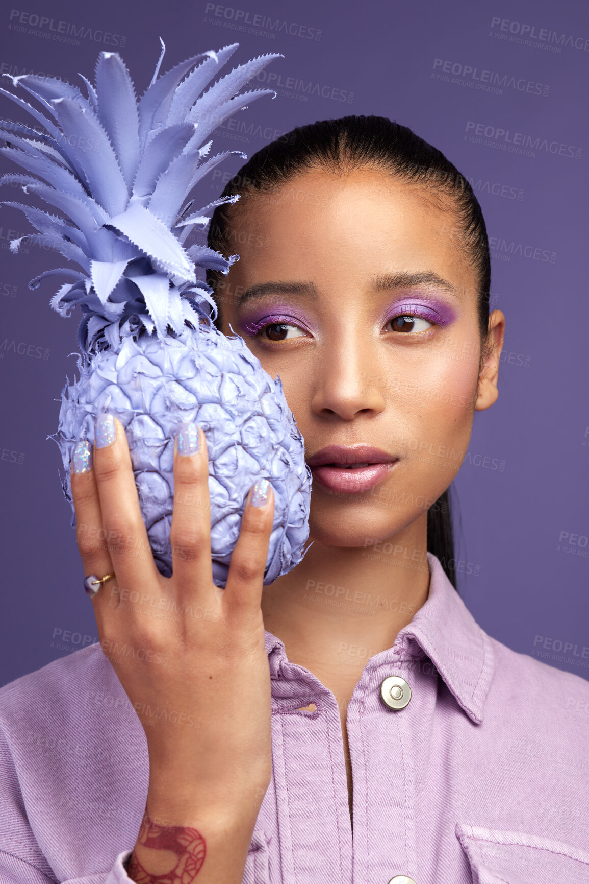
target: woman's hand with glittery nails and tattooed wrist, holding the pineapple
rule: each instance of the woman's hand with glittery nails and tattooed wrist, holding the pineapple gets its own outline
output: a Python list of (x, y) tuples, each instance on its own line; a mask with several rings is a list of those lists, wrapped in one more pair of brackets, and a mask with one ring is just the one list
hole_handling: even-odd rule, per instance
[[(94, 596), (94, 614), (149, 751), (146, 818), (129, 874), (167, 880), (181, 862), (180, 845), (190, 842), (192, 859), (183, 861), (199, 884), (238, 884), (271, 773), (261, 592), (273, 492), (262, 480), (266, 502), (258, 494), (254, 506), (248, 495), (227, 585), (218, 588), (207, 441), (200, 428), (183, 425), (183, 453), (174, 455), (173, 575), (165, 578), (155, 567), (122, 424), (102, 415), (96, 439), (94, 463), (78, 449), (74, 469), (82, 471), (72, 470), (79, 552), (86, 575), (116, 575)], [(197, 439), (199, 450), (190, 453)]]

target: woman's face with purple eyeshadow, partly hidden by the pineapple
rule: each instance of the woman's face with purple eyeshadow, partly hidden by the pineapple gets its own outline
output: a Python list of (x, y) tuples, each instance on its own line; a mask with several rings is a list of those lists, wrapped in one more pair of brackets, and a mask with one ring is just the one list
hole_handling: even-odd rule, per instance
[[(308, 171), (236, 206), (223, 333), (281, 377), (307, 461), (360, 444), (381, 452), (360, 461), (389, 461), (312, 467), (309, 535), (321, 543), (366, 545), (425, 519), (464, 459), (475, 408), (495, 401), (499, 352), (478, 390), (477, 281), (456, 225), (451, 204), (368, 168)], [(502, 320), (495, 311), (498, 339)]]

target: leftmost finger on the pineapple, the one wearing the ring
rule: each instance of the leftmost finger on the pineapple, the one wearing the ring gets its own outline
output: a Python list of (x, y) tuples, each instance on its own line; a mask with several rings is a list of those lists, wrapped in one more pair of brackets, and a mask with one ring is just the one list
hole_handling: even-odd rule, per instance
[[(76, 540), (78, 542), (79, 555), (84, 568), (84, 575), (96, 575), (104, 577), (113, 574), (114, 568), (110, 559), (106, 544), (105, 532), (102, 529), (102, 514), (96, 478), (92, 468), (92, 448), (87, 441), (80, 441), (74, 448), (72, 455), (72, 499), (76, 514)], [(102, 623), (99, 614), (102, 608), (102, 600), (112, 591), (116, 581), (104, 583), (100, 591), (92, 598), (94, 613), (99, 632)], [(98, 597), (101, 596), (101, 603)]]

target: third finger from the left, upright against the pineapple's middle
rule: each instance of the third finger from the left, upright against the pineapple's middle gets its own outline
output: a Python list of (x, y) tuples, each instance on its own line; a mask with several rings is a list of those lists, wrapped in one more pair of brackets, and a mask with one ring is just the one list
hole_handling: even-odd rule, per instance
[(178, 588), (210, 588), (213, 566), (207, 437), (195, 423), (183, 423), (177, 434), (170, 545)]

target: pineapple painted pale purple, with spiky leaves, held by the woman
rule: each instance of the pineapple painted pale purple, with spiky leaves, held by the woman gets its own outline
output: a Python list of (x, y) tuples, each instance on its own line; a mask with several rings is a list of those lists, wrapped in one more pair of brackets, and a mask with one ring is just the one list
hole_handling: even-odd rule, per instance
[[(213, 575), (224, 586), (245, 497), (259, 477), (275, 492), (275, 521), (264, 583), (286, 574), (308, 537), (311, 471), (304, 440), (276, 381), (239, 336), (214, 326), (212, 289), (197, 268), (227, 273), (238, 255), (223, 258), (205, 244), (210, 202), (195, 210), (189, 194), (236, 150), (208, 156), (208, 136), (260, 95), (238, 95), (268, 62), (268, 54), (239, 65), (204, 91), (238, 43), (194, 56), (160, 75), (164, 53), (139, 100), (129, 72), (114, 52), (102, 52), (95, 85), (82, 77), (87, 98), (63, 80), (11, 77), (41, 103), (35, 110), (3, 95), (37, 124), (3, 123), (0, 149), (30, 175), (7, 174), (60, 212), (51, 215), (18, 202), (38, 233), (11, 241), (49, 243), (81, 271), (59, 268), (29, 283), (63, 276), (51, 299), (62, 316), (79, 305), (79, 379), (62, 392), (56, 439), (64, 461), (64, 494), (72, 503), (70, 469), (80, 438), (94, 442), (102, 411), (124, 424), (147, 534), (163, 575), (170, 575), (173, 445), (185, 421), (207, 436)], [(200, 63), (200, 64), (199, 64)], [(195, 66), (197, 65), (197, 66)], [(55, 122), (45, 116), (49, 112)], [(34, 176), (34, 177), (33, 177)], [(237, 197), (230, 197), (234, 202)], [(191, 233), (197, 243), (185, 247)], [(73, 509), (73, 507), (72, 507)], [(72, 517), (72, 524), (73, 524)]]

